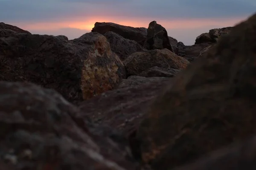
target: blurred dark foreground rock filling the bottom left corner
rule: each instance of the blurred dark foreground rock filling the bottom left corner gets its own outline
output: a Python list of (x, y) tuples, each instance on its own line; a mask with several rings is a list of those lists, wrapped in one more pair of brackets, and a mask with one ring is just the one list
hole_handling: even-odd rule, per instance
[(124, 147), (90, 133), (55, 90), (0, 81), (0, 101), (1, 170), (135, 169)]

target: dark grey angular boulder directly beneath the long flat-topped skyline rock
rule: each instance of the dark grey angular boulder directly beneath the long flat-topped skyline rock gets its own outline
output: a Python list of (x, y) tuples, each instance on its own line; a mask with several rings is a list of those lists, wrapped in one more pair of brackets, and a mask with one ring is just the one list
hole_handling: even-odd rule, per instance
[(111, 50), (119, 56), (121, 61), (125, 60), (134, 52), (146, 51), (139, 43), (129, 40), (114, 32), (106, 32), (104, 36), (107, 38)]

